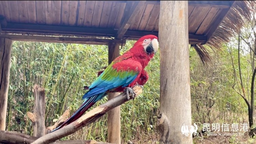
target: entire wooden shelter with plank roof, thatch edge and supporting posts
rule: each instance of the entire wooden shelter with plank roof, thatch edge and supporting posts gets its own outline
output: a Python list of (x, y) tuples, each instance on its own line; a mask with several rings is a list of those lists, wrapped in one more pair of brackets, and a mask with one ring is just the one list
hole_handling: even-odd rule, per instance
[[(167, 126), (170, 133), (166, 137), (162, 135), (161, 141), (164, 143), (181, 141), (181, 136), (177, 136), (176, 133), (180, 120), (186, 119), (188, 124), (191, 124), (189, 60), (186, 50), (188, 44), (197, 50), (203, 62), (209, 62), (210, 57), (204, 45), (212, 49), (220, 49), (222, 42), (228, 42), (229, 37), (237, 34), (242, 25), (250, 20), (250, 8), (254, 4), (254, 1), (220, 0), (184, 2), (2, 0), (0, 1), (0, 56), (2, 57), (0, 130), (5, 130), (12, 40), (109, 45), (109, 60), (112, 61), (119, 55), (119, 46), (125, 44), (126, 40), (136, 40), (141, 36), (152, 34), (159, 36), (161, 57), (165, 57), (160, 63), (160, 112), (168, 107), (169, 114), (166, 116), (169, 118)], [(175, 53), (185, 53), (185, 55), (179, 54), (180, 57), (175, 57)], [(185, 65), (180, 62), (178, 62), (180, 65), (173, 65), (177, 61), (185, 61)], [(170, 66), (173, 71), (164, 70), (166, 66)], [(183, 70), (186, 73), (177, 74), (177, 71)], [(173, 74), (177, 79), (167, 81), (168, 77), (174, 76)], [(186, 78), (184, 79), (181, 74), (186, 74)], [(179, 86), (174, 86), (178, 81), (184, 84), (179, 83)], [(167, 86), (170, 85), (172, 89), (168, 89)], [(181, 88), (186, 92), (178, 90)], [(167, 95), (170, 95), (170, 99), (166, 99)], [(183, 101), (187, 99), (184, 101), (186, 103), (176, 100), (177, 97), (181, 97), (180, 100)], [(165, 101), (171, 100), (171, 104), (165, 103), (163, 98)], [(185, 104), (186, 107), (180, 107), (180, 104)], [(177, 115), (177, 112), (181, 112), (182, 115)], [(114, 108), (110, 113), (117, 113), (117, 115), (112, 114), (114, 118), (109, 118), (109, 120), (117, 120), (115, 122), (117, 125), (109, 126), (109, 129), (115, 129), (109, 131), (109, 142), (118, 144), (120, 143), (120, 108)], [(165, 121), (162, 118), (163, 116), (160, 120)], [(117, 127), (113, 128), (114, 126)], [(166, 131), (161, 133), (164, 132)], [(191, 139), (184, 143), (191, 143)]]

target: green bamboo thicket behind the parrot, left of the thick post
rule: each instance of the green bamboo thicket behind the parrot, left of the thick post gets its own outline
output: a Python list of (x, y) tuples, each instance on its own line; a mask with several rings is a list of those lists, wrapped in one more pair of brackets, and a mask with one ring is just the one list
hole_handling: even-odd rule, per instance
[[(127, 42), (120, 53), (130, 49), (133, 41)], [(97, 71), (108, 65), (107, 46), (80, 44), (49, 44), (39, 42), (13, 42), (8, 99), (8, 131), (32, 134), (27, 112), (34, 108), (34, 84), (45, 88), (45, 125), (70, 107), (72, 113), (82, 104), (81, 97), (96, 79)], [(145, 91), (134, 100), (121, 106), (122, 139), (132, 139), (140, 133), (154, 133), (156, 112), (159, 105), (159, 53), (146, 68), (150, 75)], [(107, 101), (107, 97), (97, 105)], [(107, 117), (83, 128), (72, 136), (83, 139), (106, 141)], [(65, 138), (65, 139), (66, 139)], [(81, 139), (81, 138), (80, 138)]]

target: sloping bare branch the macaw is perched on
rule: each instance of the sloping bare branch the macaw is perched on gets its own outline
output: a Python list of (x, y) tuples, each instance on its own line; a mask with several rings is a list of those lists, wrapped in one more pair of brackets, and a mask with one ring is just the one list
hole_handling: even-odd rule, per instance
[[(133, 90), (136, 95), (142, 93), (142, 88), (140, 86), (134, 86)], [(89, 125), (90, 123), (97, 120), (100, 116), (103, 116), (106, 112), (115, 108), (119, 105), (122, 105), (128, 101), (126, 93), (122, 93), (117, 97), (107, 101), (105, 104), (100, 105), (92, 109), (91, 111), (87, 112), (83, 116), (81, 116), (78, 120), (74, 121), (73, 123), (64, 126), (57, 131), (53, 131), (52, 133), (46, 134), (41, 138), (37, 139), (36, 141), (32, 142), (32, 144), (49, 144), (50, 142), (54, 142), (60, 138), (68, 136), (72, 133), (75, 133), (79, 129), (83, 128), (84, 126)]]

